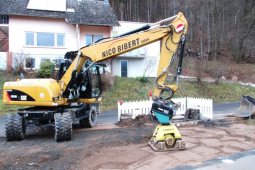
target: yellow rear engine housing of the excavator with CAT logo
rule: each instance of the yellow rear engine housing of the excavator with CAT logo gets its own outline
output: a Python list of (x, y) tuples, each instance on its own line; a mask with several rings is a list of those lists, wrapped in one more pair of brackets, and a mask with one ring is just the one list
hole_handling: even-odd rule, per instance
[(3, 102), (9, 105), (57, 106), (64, 104), (59, 100), (61, 89), (54, 79), (22, 79), (6, 82), (3, 86)]

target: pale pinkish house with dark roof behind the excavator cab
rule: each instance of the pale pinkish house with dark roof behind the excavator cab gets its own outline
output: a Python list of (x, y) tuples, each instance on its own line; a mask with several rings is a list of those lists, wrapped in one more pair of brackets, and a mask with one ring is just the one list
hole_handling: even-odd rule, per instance
[(30, 69), (45, 60), (58, 64), (66, 52), (109, 37), (119, 25), (102, 0), (0, 0), (1, 17), (8, 18), (0, 23), (8, 27), (7, 62), (24, 59)]

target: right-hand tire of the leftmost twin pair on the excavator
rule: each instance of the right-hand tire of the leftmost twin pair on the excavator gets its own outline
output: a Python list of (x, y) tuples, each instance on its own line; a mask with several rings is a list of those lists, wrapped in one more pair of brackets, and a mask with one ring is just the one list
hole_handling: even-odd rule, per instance
[(23, 140), (25, 138), (25, 123), (23, 117), (19, 114), (13, 115), (13, 133), (15, 140)]

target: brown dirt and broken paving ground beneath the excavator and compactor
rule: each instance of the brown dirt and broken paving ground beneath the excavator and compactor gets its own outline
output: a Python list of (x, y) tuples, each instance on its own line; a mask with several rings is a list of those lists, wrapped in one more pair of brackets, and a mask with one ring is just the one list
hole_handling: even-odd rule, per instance
[(246, 120), (179, 127), (188, 148), (161, 153), (147, 144), (154, 127), (148, 122), (76, 127), (72, 141), (62, 143), (49, 128), (23, 141), (0, 138), (0, 169), (171, 169), (255, 148), (255, 125)]

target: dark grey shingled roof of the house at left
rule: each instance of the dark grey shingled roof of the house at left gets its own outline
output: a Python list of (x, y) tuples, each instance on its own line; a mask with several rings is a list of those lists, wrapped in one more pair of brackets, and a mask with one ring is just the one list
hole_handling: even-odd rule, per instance
[(0, 0), (0, 15), (63, 18), (71, 24), (119, 25), (109, 3), (98, 0), (67, 0), (67, 8), (75, 12), (27, 9), (29, 0)]

